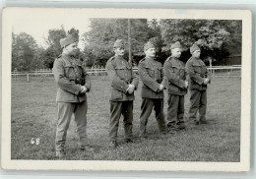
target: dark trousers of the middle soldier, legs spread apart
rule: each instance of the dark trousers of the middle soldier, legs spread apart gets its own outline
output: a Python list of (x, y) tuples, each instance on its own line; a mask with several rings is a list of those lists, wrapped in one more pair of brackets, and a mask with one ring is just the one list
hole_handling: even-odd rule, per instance
[(166, 131), (163, 115), (163, 99), (142, 98), (142, 113), (140, 117), (140, 137), (146, 135), (146, 127), (148, 119), (152, 113), (153, 107), (156, 112), (156, 119), (159, 125), (160, 133), (164, 133)]

